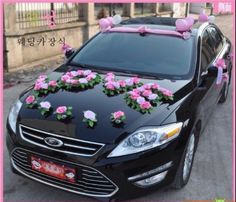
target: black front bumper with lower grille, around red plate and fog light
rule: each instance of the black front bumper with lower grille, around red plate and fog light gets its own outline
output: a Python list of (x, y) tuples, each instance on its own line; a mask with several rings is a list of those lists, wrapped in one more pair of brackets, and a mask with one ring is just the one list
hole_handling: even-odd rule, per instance
[[(123, 157), (106, 158), (107, 153), (105, 152), (104, 154), (101, 151), (102, 154), (98, 153), (97, 156), (88, 158), (70, 154), (62, 154), (32, 145), (13, 134), (10, 129), (8, 129), (8, 131), (7, 147), (14, 170), (35, 181), (95, 198), (127, 200), (145, 195), (148, 192), (170, 184), (175, 178), (184, 149), (178, 146), (178, 139), (176, 139), (163, 148), (154, 149), (148, 152), (141, 152)], [(14, 159), (14, 156), (16, 156), (14, 154), (17, 151), (18, 153), (21, 152), (23, 156), (25, 155), (26, 161), (24, 163), (27, 164), (27, 169), (22, 167), (22, 162), (16, 162), (17, 160), (19, 161), (19, 159)], [(78, 173), (81, 173), (83, 168), (89, 171), (94, 171), (98, 173), (96, 175), (100, 176), (100, 179), (99, 177), (93, 177), (90, 181), (82, 182), (83, 186), (81, 187), (80, 183), (78, 183), (79, 186), (71, 186), (65, 182), (58, 182), (58, 180), (52, 179), (49, 176), (39, 176), (32, 173), (29, 160), (30, 155), (36, 155), (53, 162), (76, 167), (78, 169)], [(17, 157), (19, 158), (19, 155)], [(150, 173), (148, 176), (145, 175), (137, 178), (137, 180), (130, 180), (134, 176), (159, 168), (169, 162), (171, 162), (170, 167), (158, 171), (158, 173), (167, 171), (165, 178), (154, 185), (141, 187), (136, 185), (135, 182), (158, 173)], [(100, 183), (99, 180), (103, 182)]]

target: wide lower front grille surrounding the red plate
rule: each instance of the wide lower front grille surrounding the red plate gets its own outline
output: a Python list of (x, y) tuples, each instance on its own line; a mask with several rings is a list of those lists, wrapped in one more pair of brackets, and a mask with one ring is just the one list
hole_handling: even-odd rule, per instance
[[(30, 155), (32, 154), (40, 158), (48, 159), (49, 161), (76, 168), (76, 183), (63, 181), (61, 179), (33, 170), (30, 163)], [(13, 167), (23, 175), (44, 184), (73, 193), (95, 197), (110, 197), (118, 191), (118, 187), (111, 180), (91, 167), (65, 162), (58, 159), (53, 160), (51, 157), (42, 156), (19, 148), (12, 152), (11, 161)]]

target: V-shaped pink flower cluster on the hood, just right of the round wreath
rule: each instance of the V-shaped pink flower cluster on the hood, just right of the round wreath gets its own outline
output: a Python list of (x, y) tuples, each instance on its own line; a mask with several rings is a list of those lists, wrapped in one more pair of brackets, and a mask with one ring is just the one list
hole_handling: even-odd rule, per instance
[(115, 75), (112, 72), (106, 74), (104, 78), (104, 93), (107, 95), (116, 95), (120, 94), (138, 86), (141, 86), (142, 83), (138, 77), (131, 77), (125, 80), (116, 80)]

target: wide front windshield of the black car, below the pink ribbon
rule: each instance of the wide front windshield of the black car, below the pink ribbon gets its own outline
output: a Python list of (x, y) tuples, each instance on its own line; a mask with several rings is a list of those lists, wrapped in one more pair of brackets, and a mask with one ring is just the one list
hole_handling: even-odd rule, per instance
[(139, 33), (100, 33), (72, 59), (103, 70), (181, 79), (191, 73), (192, 37)]

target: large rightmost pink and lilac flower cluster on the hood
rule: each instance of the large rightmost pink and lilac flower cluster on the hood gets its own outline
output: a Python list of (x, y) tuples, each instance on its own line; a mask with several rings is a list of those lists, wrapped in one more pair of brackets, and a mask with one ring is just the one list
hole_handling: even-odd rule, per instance
[(171, 91), (156, 83), (147, 83), (125, 94), (125, 100), (133, 109), (141, 113), (150, 113), (161, 100), (173, 100)]

